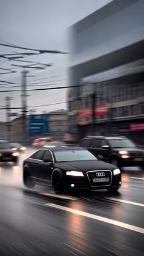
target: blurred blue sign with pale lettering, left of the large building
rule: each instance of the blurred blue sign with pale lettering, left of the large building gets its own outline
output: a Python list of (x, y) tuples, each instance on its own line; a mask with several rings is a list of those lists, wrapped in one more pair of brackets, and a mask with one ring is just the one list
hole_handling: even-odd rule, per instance
[(49, 134), (49, 115), (30, 115), (29, 116), (29, 136)]

